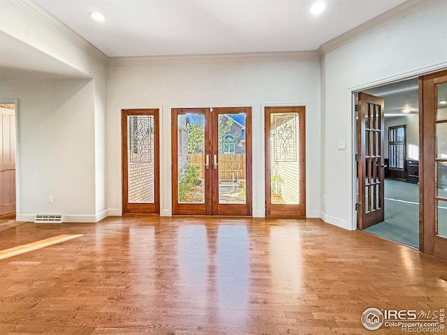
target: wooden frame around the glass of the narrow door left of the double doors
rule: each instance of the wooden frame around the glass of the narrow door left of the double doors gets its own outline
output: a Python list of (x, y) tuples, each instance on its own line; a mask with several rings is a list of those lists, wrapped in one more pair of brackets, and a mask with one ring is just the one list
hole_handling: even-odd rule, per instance
[[(128, 127), (127, 117), (133, 115), (154, 116), (154, 203), (129, 204), (128, 171)], [(122, 214), (160, 214), (160, 109), (122, 109), (121, 110), (121, 151), (122, 151)]]

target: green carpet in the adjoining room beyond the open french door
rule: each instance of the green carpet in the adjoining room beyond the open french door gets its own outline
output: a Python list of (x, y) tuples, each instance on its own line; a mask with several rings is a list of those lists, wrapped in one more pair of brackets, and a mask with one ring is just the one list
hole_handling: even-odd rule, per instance
[(385, 179), (385, 221), (365, 232), (419, 248), (419, 185)]

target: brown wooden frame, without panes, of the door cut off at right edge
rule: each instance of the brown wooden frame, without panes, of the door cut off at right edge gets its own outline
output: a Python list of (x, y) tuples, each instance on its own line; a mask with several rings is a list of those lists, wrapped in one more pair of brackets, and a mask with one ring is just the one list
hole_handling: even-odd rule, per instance
[[(425, 85), (424, 83), (427, 82)], [(435, 234), (436, 207), (436, 96), (434, 85), (447, 82), (447, 70), (419, 77), (419, 249), (447, 259), (447, 239)], [(424, 98), (427, 96), (428, 98)], [(427, 134), (433, 134), (427, 138)], [(440, 244), (444, 247), (437, 248)]]

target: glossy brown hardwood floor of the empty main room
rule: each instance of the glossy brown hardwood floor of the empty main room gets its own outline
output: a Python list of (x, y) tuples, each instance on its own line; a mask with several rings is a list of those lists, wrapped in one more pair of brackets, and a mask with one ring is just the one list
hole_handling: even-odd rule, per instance
[(402, 334), (366, 308), (447, 307), (447, 262), (319, 219), (26, 223), (0, 249), (0, 334)]

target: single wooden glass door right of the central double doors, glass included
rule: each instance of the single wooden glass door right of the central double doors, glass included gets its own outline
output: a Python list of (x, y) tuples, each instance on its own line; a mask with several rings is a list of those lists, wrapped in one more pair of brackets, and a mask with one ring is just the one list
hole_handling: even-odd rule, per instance
[(306, 216), (305, 107), (265, 107), (265, 215)]

